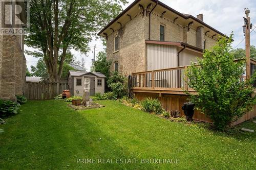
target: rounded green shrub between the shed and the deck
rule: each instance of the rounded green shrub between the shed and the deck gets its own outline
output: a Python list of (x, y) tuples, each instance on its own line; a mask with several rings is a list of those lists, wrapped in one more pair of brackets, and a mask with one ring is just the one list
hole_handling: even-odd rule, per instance
[(127, 79), (118, 72), (114, 72), (109, 78), (108, 85), (117, 99), (127, 94)]

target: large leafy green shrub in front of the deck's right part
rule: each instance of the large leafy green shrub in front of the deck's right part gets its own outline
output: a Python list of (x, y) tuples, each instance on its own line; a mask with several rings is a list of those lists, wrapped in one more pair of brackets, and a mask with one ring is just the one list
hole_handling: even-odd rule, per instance
[(201, 66), (193, 64), (185, 73), (189, 87), (198, 92), (198, 95), (189, 95), (190, 101), (209, 115), (218, 130), (242, 117), (256, 102), (251, 95), (255, 74), (251, 80), (240, 81), (245, 63), (243, 60), (234, 62), (230, 54), (231, 42), (232, 34), (229, 38), (220, 38), (212, 50), (205, 50), (203, 58), (198, 60)]

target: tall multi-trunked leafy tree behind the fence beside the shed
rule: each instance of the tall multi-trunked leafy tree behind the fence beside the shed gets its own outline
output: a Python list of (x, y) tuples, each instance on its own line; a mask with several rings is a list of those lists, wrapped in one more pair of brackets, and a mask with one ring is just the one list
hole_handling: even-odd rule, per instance
[(50, 80), (58, 82), (67, 51), (87, 53), (92, 35), (117, 16), (126, 0), (31, 0), (25, 43), (42, 53)]

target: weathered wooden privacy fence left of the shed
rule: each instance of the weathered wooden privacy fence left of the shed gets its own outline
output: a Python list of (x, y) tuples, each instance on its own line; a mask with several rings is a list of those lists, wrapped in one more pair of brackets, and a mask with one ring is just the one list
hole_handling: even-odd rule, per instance
[(26, 82), (25, 96), (28, 100), (49, 100), (67, 89), (67, 83)]

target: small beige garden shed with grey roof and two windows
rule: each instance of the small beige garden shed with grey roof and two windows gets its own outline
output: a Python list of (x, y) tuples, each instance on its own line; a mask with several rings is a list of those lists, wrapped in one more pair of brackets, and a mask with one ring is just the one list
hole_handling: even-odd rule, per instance
[[(84, 79), (90, 78), (90, 95), (103, 94), (105, 91), (105, 75), (100, 72), (69, 71), (68, 84), (71, 95), (83, 94)], [(77, 93), (79, 92), (79, 94)]]

